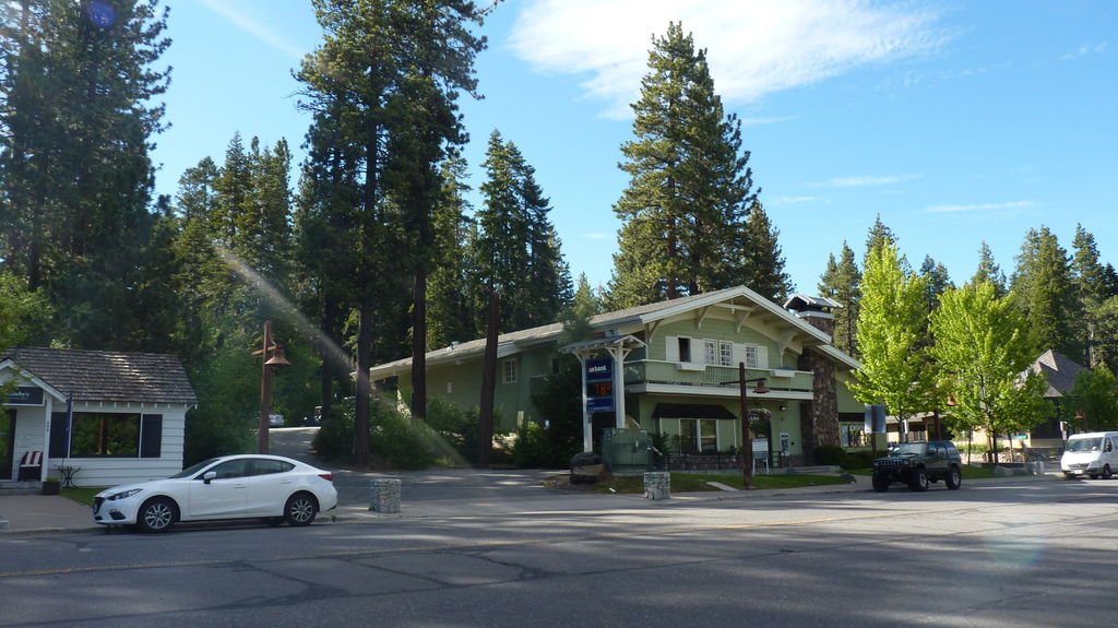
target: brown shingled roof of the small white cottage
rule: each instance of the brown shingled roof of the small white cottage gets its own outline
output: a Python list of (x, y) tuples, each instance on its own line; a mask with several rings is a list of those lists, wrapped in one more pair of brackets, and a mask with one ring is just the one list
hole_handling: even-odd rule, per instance
[(0, 355), (75, 401), (198, 403), (174, 355), (16, 348)]

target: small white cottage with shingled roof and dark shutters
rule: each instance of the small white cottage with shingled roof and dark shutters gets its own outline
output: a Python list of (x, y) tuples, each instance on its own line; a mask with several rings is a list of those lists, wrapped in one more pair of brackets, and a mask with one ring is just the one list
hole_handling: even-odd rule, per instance
[(173, 355), (17, 348), (0, 354), (0, 483), (111, 486), (182, 469), (198, 403)]

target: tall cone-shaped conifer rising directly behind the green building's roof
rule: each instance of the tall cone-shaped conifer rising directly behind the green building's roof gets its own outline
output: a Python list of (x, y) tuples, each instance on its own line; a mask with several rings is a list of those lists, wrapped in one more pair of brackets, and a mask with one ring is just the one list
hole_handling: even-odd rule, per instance
[(629, 175), (609, 306), (627, 307), (733, 285), (751, 191), (741, 123), (726, 115), (707, 64), (678, 22), (653, 37), (633, 104), (636, 139), (622, 144)]

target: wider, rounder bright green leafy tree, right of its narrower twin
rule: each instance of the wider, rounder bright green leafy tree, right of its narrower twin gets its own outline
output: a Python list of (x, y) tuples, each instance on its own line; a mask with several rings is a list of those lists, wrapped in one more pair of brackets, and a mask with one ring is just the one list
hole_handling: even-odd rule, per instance
[(996, 435), (1029, 430), (1050, 411), (1043, 377), (1029, 371), (1022, 378), (1035, 349), (1012, 299), (998, 298), (989, 282), (967, 284), (944, 293), (931, 315), (940, 390), (955, 400), (949, 418), (959, 429), (995, 437), (995, 455)]

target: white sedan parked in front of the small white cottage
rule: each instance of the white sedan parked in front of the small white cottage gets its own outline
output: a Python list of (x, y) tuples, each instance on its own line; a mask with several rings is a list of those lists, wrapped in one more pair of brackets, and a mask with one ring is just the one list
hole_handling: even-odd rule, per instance
[(333, 474), (282, 456), (211, 458), (167, 479), (114, 486), (93, 499), (93, 521), (163, 532), (176, 522), (262, 518), (310, 525), (338, 506)]

